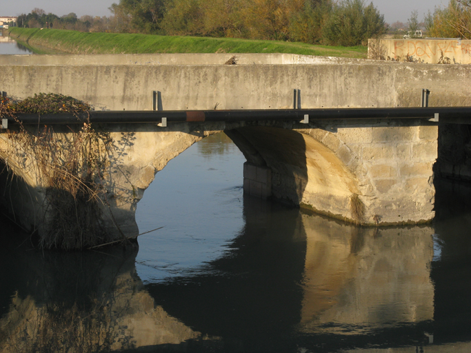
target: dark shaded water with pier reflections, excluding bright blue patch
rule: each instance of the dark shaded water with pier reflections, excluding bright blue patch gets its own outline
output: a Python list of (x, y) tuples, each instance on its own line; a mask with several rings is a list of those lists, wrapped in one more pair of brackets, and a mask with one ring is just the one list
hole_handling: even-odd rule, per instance
[(250, 197), (243, 212), (222, 257), (148, 285), (135, 251), (9, 244), (0, 352), (335, 352), (425, 341), (431, 228), (355, 228)]

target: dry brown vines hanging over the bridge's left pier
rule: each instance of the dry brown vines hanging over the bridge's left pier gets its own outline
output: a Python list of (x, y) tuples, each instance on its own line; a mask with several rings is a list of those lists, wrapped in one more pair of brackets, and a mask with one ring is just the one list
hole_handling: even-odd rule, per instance
[(61, 94), (37, 94), (24, 101), (3, 97), (0, 102), (0, 116), (17, 122), (6, 132), (7, 148), (1, 155), (36, 175), (38, 187), (45, 190), (41, 248), (82, 249), (111, 240), (102, 225), (100, 204), (106, 203), (103, 180), (112, 141), (89, 122), (54, 131), (47, 125), (23, 125), (16, 114), (77, 114), (90, 109)]

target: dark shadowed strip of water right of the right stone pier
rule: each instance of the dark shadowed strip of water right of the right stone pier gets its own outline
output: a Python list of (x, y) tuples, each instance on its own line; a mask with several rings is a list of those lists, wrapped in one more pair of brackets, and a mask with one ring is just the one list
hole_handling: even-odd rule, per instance
[(437, 342), (471, 341), (471, 184), (436, 184), (434, 332)]

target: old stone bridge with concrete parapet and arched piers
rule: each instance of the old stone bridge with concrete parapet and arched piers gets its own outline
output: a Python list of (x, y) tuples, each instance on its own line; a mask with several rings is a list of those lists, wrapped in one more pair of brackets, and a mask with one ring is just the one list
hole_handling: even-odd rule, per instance
[[(423, 89), (430, 91), (429, 106), (471, 105), (471, 73), (464, 65), (292, 54), (240, 54), (237, 65), (224, 65), (230, 57), (1, 56), (0, 90), (17, 99), (38, 92), (66, 94), (96, 110), (418, 107)], [(249, 194), (364, 224), (422, 223), (434, 217), (432, 167), (439, 128), (428, 119), (302, 123), (248, 117), (95, 128), (108, 132), (114, 145), (104, 176), (109, 207), (103, 207), (103, 223), (115, 237), (138, 233), (136, 205), (156, 172), (192, 143), (217, 132), (226, 132), (245, 155), (244, 190)], [(3, 203), (26, 228), (34, 225), (45, 232), (45, 185), (33, 166), (25, 168), (6, 153), (8, 136), (0, 134), (0, 158), (17, 178), (12, 183), (4, 175), (10, 181), (3, 183), (8, 186)]]

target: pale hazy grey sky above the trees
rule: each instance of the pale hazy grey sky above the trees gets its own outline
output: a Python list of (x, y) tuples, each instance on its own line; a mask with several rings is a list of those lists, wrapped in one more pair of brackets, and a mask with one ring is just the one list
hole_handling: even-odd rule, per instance
[[(370, 2), (365, 0), (367, 5)], [(46, 13), (52, 12), (59, 17), (70, 12), (78, 17), (84, 14), (110, 16), (108, 8), (112, 3), (119, 3), (119, 0), (0, 0), (0, 17), (28, 14), (33, 8), (42, 8)], [(428, 10), (433, 12), (435, 6), (447, 6), (448, 0), (372, 0), (372, 3), (384, 14), (385, 21), (391, 24), (396, 21), (407, 22), (413, 10), (419, 12), (419, 21), (422, 21)]]

